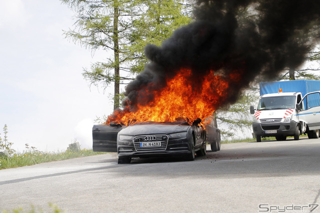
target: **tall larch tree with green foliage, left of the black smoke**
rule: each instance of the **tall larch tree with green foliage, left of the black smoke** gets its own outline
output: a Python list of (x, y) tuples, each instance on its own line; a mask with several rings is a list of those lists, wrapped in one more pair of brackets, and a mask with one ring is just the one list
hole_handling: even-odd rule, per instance
[(61, 1), (76, 12), (74, 28), (65, 31), (66, 37), (92, 50), (113, 52), (82, 73), (95, 86), (114, 83), (113, 109), (120, 106), (120, 84), (133, 79), (132, 73), (140, 72), (147, 62), (145, 44), (161, 43), (191, 20), (183, 0)]

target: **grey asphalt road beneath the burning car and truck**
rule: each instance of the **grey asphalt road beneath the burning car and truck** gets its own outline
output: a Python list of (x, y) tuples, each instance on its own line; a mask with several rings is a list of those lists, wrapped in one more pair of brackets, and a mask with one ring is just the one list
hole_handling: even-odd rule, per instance
[(118, 165), (109, 153), (3, 169), (0, 211), (47, 212), (50, 202), (66, 212), (320, 212), (320, 139), (209, 150), (195, 161)]

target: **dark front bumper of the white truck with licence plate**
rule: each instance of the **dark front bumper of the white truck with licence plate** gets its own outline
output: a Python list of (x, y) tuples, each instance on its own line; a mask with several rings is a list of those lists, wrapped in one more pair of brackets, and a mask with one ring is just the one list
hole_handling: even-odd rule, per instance
[[(252, 123), (252, 129), (255, 135), (261, 137), (293, 136), (297, 124), (294, 120), (290, 122)], [(268, 130), (276, 130), (276, 133), (267, 133)]]

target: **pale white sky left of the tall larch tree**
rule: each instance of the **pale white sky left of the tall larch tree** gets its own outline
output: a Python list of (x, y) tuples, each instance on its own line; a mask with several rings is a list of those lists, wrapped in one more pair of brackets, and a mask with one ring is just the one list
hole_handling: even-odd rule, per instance
[(92, 148), (96, 117), (112, 112), (112, 85), (89, 86), (83, 67), (107, 57), (65, 38), (75, 13), (59, 0), (0, 0), (0, 133), (11, 148), (25, 143), (63, 151)]

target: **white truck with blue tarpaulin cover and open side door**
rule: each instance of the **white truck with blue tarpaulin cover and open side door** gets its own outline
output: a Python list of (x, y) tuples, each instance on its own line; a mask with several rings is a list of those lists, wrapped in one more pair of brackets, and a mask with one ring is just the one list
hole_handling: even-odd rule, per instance
[(300, 134), (318, 138), (320, 129), (320, 80), (290, 80), (260, 83), (260, 98), (253, 114), (252, 129), (256, 141), (261, 137)]

